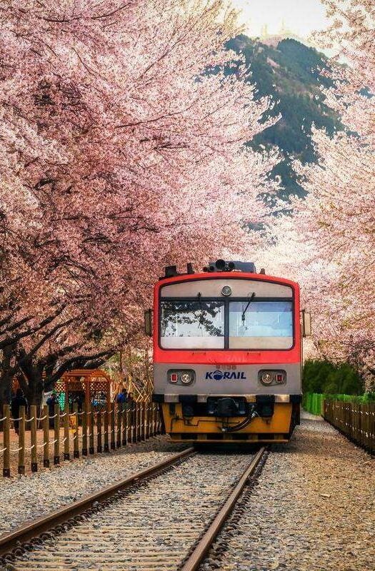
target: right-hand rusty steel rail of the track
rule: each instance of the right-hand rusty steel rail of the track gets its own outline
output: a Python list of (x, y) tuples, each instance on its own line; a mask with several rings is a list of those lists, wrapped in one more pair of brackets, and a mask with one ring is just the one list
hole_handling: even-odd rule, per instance
[(201, 537), (201, 540), (199, 540), (199, 542), (197, 543), (196, 547), (194, 548), (194, 551), (191, 552), (191, 555), (189, 555), (189, 557), (186, 559), (184, 565), (180, 567), (180, 571), (196, 571), (199, 565), (201, 565), (201, 563), (204, 561), (204, 558), (209, 552), (209, 548), (214, 542), (216, 536), (219, 534), (221, 528), (224, 526), (224, 523), (228, 519), (229, 515), (233, 511), (234, 506), (236, 505), (236, 502), (239, 499), (239, 496), (241, 495), (241, 492), (244, 490), (244, 487), (246, 486), (246, 482), (249, 480), (249, 477), (253, 475), (257, 465), (259, 465), (265, 450), (266, 447), (262, 446), (259, 452), (256, 453), (256, 456), (251, 461), (250, 465), (245, 469), (238, 484), (231, 492), (231, 495), (229, 495), (223, 507), (221, 507), (221, 510), (217, 513), (213, 522), (211, 522), (211, 525), (204, 532), (204, 535), (203, 537)]

